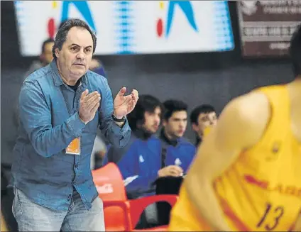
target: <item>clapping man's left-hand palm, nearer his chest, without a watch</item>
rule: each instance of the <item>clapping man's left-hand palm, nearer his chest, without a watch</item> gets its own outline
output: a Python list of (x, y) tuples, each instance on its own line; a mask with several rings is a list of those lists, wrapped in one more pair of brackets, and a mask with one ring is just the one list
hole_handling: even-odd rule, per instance
[(94, 118), (101, 99), (100, 94), (97, 91), (94, 91), (91, 94), (88, 93), (88, 89), (82, 92), (82, 96), (80, 96), (80, 110), (78, 112), (80, 119), (85, 124), (89, 123), (89, 121), (92, 121)]

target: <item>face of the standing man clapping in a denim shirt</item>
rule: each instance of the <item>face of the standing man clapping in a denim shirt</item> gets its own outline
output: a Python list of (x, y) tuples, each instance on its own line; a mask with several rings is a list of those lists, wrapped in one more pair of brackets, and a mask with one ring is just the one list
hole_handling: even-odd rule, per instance
[(89, 69), (93, 55), (92, 35), (84, 28), (73, 27), (67, 34), (62, 50), (55, 50), (63, 75), (82, 77)]

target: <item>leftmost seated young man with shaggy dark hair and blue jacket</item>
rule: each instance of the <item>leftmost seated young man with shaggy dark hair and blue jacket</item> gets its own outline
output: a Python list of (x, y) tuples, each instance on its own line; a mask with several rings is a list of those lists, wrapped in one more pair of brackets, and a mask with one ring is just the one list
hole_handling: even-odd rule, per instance
[(162, 143), (153, 135), (158, 131), (162, 108), (160, 101), (153, 96), (140, 96), (135, 109), (128, 115), (132, 133), (136, 136), (142, 134), (132, 140), (117, 163), (130, 199), (154, 195), (154, 182), (158, 177), (183, 175), (182, 167), (174, 165), (177, 160), (173, 160), (173, 149), (166, 154), (163, 163)]

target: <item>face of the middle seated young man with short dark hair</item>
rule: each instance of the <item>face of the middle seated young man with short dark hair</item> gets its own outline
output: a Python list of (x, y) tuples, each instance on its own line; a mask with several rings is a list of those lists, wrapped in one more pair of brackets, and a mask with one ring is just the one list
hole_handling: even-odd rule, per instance
[(163, 121), (165, 133), (171, 138), (180, 138), (187, 128), (187, 111), (173, 112), (168, 121)]

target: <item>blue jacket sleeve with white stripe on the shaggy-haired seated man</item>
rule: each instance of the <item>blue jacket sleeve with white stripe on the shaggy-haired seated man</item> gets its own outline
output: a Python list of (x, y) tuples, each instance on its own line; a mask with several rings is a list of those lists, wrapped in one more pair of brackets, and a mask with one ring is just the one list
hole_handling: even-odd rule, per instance
[(122, 177), (124, 177), (124, 185), (128, 193), (148, 191), (158, 177), (158, 170), (153, 170), (150, 173), (140, 172), (139, 154), (135, 145), (131, 145), (117, 165)]

